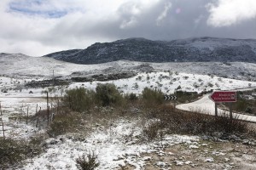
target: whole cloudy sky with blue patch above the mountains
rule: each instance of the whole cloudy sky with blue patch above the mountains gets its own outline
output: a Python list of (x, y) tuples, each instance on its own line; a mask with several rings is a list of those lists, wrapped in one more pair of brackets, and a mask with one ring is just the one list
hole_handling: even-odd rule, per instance
[(128, 37), (256, 39), (256, 0), (0, 0), (0, 53), (40, 56)]

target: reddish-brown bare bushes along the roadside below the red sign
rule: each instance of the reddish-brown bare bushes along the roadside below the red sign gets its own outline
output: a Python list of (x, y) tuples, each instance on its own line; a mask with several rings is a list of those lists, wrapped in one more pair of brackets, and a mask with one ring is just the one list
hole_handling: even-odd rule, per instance
[(227, 115), (216, 117), (197, 112), (175, 111), (170, 105), (162, 105), (155, 112), (156, 118), (160, 120), (158, 127), (165, 127), (168, 133), (226, 135), (250, 132), (247, 123), (241, 122), (238, 117), (230, 120)]

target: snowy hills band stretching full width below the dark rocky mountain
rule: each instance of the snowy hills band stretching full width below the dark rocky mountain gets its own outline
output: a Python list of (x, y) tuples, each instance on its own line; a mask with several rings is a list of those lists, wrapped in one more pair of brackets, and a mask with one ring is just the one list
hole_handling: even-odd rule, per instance
[(78, 65), (48, 57), (30, 57), (24, 54), (0, 54), (0, 68), (0, 76), (33, 79), (51, 79), (53, 74), (59, 79), (75, 79), (78, 77), (80, 79), (88, 79), (88, 77), (91, 79), (95, 75), (112, 77), (116, 74), (125, 74), (130, 77), (129, 75), (132, 76), (139, 72), (178, 71), (256, 81), (256, 64), (245, 62), (145, 63), (119, 60), (96, 65)]

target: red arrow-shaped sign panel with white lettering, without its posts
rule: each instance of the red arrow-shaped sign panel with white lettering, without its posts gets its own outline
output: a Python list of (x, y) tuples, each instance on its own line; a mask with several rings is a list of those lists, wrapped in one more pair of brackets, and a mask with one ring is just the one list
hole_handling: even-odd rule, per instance
[(216, 103), (221, 102), (236, 102), (236, 92), (231, 91), (216, 91), (213, 92), (210, 96), (210, 99)]

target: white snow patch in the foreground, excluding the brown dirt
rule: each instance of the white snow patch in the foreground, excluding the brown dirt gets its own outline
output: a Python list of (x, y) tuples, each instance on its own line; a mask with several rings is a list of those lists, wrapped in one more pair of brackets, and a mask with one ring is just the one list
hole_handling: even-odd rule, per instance
[[(27, 160), (26, 166), (22, 169), (47, 170), (49, 167), (76, 169), (76, 158), (84, 153), (94, 152), (100, 162), (97, 169), (120, 169), (122, 166), (130, 164), (134, 166), (134, 169), (140, 170), (148, 160), (148, 156), (143, 156), (143, 154), (160, 153), (160, 145), (189, 144), (192, 147), (193, 144), (198, 144), (198, 137), (181, 135), (166, 136), (159, 142), (141, 144), (137, 141), (137, 136), (141, 135), (141, 129), (136, 127), (135, 122), (125, 120), (116, 122), (113, 127), (109, 127), (105, 131), (97, 130), (82, 141), (76, 141), (68, 136), (48, 139), (46, 141), (49, 147), (47, 152), (32, 160)], [(135, 133), (132, 133), (134, 130)], [(125, 136), (130, 134), (132, 134), (131, 140), (127, 142)]]

